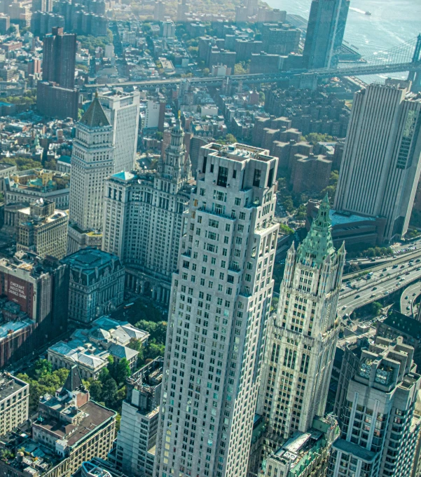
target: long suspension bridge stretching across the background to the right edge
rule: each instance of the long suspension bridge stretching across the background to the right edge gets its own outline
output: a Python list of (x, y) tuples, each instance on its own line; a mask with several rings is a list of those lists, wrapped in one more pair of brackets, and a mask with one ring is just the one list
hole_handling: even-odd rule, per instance
[(340, 63), (336, 68), (323, 69), (294, 69), (287, 72), (270, 74), (232, 74), (230, 76), (207, 76), (202, 78), (174, 78), (152, 79), (142, 81), (122, 81), (116, 83), (85, 84), (82, 88), (90, 90), (103, 86), (129, 87), (137, 86), (144, 90), (153, 90), (166, 86), (175, 88), (181, 83), (189, 83), (194, 86), (221, 87), (226, 83), (230, 85), (277, 83), (278, 81), (291, 79), (327, 79), (343, 76), (364, 76), (373, 74), (392, 74), (409, 72), (408, 79), (413, 81), (415, 90), (421, 90), (421, 34), (413, 39), (401, 43), (401, 45), (365, 58), (364, 62), (348, 65)]

